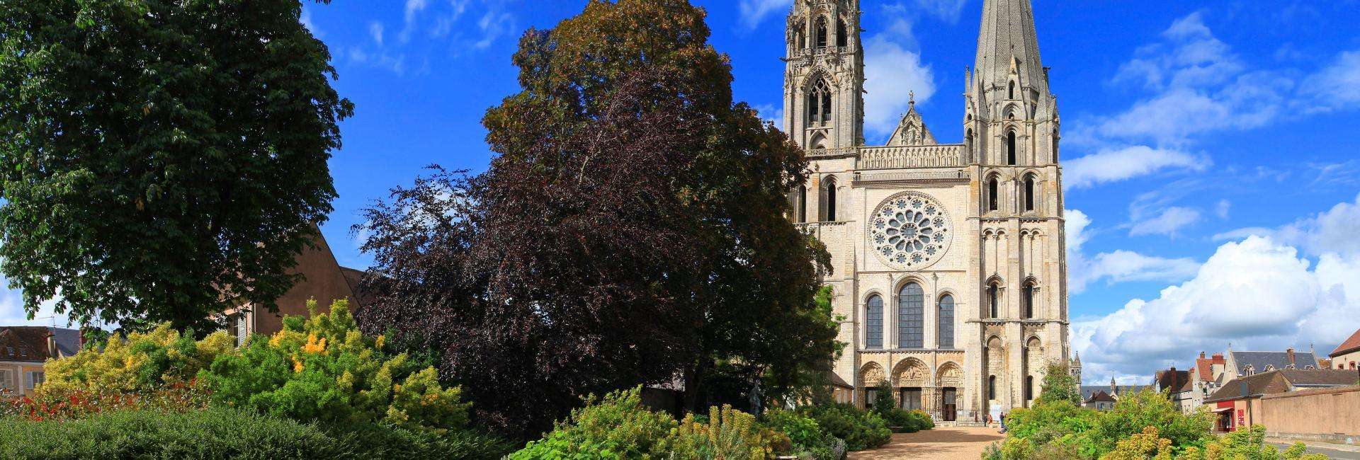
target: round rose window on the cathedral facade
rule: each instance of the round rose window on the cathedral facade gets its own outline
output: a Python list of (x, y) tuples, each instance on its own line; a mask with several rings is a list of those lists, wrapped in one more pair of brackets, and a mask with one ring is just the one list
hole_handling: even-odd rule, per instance
[(944, 206), (907, 191), (884, 201), (869, 218), (869, 244), (888, 265), (919, 270), (949, 248), (953, 228)]

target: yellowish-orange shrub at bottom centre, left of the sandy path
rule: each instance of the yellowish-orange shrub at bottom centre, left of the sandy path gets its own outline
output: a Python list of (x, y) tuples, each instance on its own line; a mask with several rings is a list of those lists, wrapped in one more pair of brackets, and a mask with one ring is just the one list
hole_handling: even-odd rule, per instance
[(687, 415), (668, 451), (675, 459), (764, 460), (792, 448), (787, 436), (756, 423), (755, 415), (722, 406), (703, 422)]

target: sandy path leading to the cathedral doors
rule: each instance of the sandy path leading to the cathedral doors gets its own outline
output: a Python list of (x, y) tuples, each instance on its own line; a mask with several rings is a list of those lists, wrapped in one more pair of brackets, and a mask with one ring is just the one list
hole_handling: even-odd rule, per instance
[(991, 442), (1004, 440), (994, 427), (936, 427), (919, 433), (899, 433), (885, 446), (851, 452), (850, 460), (960, 459), (978, 460)]

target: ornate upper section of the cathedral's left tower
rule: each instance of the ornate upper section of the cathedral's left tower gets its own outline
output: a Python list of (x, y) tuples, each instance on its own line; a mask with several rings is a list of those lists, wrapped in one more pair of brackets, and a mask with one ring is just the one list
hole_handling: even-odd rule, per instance
[(809, 151), (864, 145), (860, 0), (794, 0), (786, 41), (785, 132)]

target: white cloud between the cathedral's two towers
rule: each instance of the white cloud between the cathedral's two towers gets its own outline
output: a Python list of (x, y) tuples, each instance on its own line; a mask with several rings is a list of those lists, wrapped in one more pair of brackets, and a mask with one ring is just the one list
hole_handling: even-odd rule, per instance
[[(895, 11), (895, 8), (885, 8)], [(865, 129), (888, 136), (907, 111), (910, 94), (923, 103), (936, 92), (930, 65), (914, 50), (911, 22), (898, 16), (887, 30), (865, 41)]]

